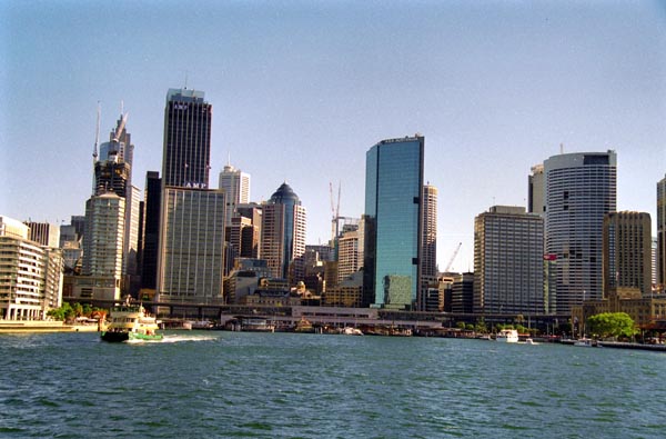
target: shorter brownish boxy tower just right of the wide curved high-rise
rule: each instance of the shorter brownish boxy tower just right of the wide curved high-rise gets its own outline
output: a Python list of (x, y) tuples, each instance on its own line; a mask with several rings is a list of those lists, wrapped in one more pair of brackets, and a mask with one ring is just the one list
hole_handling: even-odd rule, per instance
[(652, 292), (652, 221), (645, 212), (604, 218), (604, 295), (633, 289)]

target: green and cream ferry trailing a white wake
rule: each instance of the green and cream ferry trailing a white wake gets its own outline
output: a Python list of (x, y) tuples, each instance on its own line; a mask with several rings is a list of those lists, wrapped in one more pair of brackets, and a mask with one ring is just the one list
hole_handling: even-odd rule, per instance
[(102, 330), (104, 341), (162, 340), (158, 333), (158, 321), (145, 311), (142, 305), (131, 305), (130, 299), (124, 305), (111, 308), (109, 325)]

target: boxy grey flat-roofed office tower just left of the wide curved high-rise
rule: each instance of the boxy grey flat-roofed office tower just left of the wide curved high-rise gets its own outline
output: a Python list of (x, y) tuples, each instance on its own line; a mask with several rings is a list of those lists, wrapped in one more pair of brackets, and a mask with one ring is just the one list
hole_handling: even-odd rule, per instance
[(544, 220), (493, 206), (474, 220), (474, 312), (544, 312)]

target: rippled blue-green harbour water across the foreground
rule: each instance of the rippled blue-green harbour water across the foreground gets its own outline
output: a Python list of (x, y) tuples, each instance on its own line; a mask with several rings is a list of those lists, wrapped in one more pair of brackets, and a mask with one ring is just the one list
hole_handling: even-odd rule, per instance
[(663, 352), (218, 331), (0, 352), (2, 438), (666, 437)]

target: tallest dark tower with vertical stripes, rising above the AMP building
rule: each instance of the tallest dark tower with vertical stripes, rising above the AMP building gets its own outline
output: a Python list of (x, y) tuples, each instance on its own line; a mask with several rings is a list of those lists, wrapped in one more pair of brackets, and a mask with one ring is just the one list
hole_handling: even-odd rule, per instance
[(170, 89), (164, 109), (162, 187), (206, 189), (213, 108), (203, 91)]

